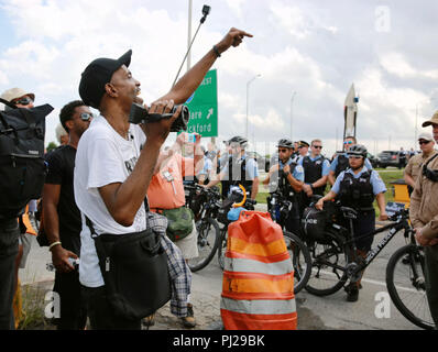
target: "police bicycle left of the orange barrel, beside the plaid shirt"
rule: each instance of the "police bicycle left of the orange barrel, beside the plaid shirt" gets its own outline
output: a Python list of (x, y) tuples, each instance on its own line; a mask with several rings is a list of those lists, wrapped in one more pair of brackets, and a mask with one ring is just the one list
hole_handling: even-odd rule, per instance
[(195, 216), (197, 245), (199, 255), (187, 261), (191, 272), (206, 267), (215, 257), (220, 242), (220, 229), (216, 221), (221, 206), (221, 197), (217, 187), (211, 189), (200, 185), (185, 185), (186, 207)]

